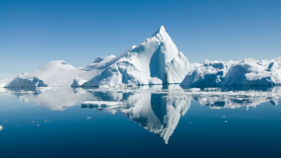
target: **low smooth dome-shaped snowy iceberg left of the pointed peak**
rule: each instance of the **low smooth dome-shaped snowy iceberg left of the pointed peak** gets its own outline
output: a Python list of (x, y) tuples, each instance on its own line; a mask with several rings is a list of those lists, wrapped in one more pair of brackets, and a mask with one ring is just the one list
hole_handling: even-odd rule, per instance
[[(100, 72), (101, 70), (81, 70), (62, 60), (51, 61), (32, 73), (23, 73), (17, 76), (5, 87), (70, 86), (73, 82), (77, 85), (79, 81), (81, 83), (84, 80), (90, 80)], [(77, 76), (80, 78), (79, 81), (76, 79)]]

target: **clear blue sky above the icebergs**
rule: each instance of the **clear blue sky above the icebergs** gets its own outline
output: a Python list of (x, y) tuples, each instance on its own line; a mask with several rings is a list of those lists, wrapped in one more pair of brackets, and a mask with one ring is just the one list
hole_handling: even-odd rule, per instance
[(119, 55), (161, 25), (191, 63), (281, 56), (280, 0), (0, 0), (0, 79)]

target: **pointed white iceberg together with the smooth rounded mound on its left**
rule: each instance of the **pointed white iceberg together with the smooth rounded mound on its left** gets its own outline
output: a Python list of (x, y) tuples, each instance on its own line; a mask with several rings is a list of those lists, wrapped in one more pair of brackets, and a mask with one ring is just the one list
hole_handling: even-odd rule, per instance
[[(32, 73), (17, 76), (2, 87), (104, 86), (119, 84), (180, 83), (190, 71), (188, 59), (161, 26), (150, 38), (121, 53), (96, 57), (89, 65), (75, 68), (51, 61)], [(77, 77), (78, 76), (78, 77)]]

